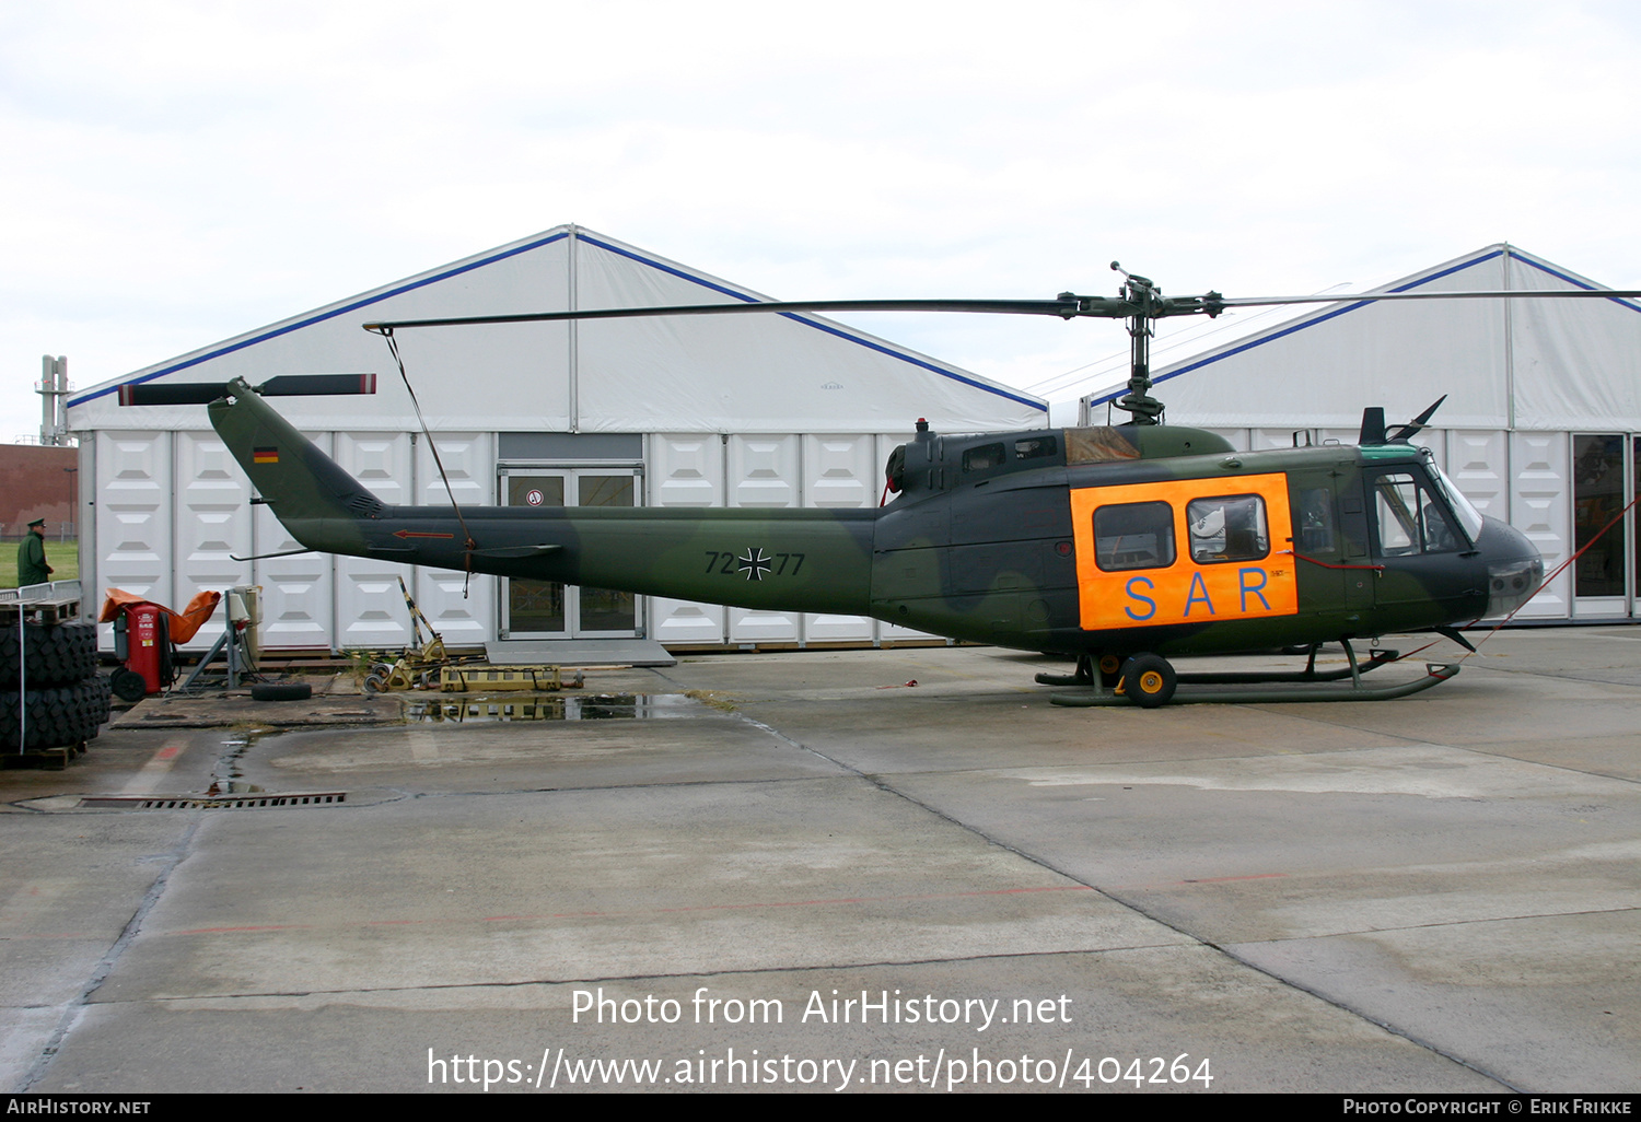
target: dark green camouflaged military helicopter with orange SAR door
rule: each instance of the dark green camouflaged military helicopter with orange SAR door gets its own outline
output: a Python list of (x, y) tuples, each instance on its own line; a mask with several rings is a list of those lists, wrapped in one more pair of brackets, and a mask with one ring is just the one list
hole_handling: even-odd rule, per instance
[[(870, 615), (934, 635), (1073, 656), (1067, 705), (1163, 705), (1177, 686), (1342, 682), (1305, 700), (1400, 697), (1452, 677), (1428, 664), (1408, 684), (1369, 689), (1352, 641), (1457, 630), (1524, 604), (1544, 563), (1521, 531), (1482, 517), (1411, 443), (1419, 417), (1387, 426), (1364, 412), (1355, 446), (1237, 451), (1223, 436), (1165, 425), (1150, 395), (1154, 323), (1232, 307), (1464, 297), (1626, 297), (1634, 292), (1383, 292), (1227, 299), (1165, 297), (1111, 266), (1116, 297), (1054, 300), (812, 300), (602, 308), (366, 323), (394, 333), (656, 315), (968, 312), (1121, 318), (1131, 336), (1119, 425), (940, 435), (926, 422), (886, 464), (876, 509), (391, 507), (302, 436), (264, 399), (374, 392), (374, 374), (281, 376), (194, 385), (126, 384), (123, 405), (205, 404), (258, 499), (305, 550), (469, 574), (604, 587), (747, 609)], [(409, 385), (409, 379), (407, 379)], [(414, 394), (412, 394), (414, 395)], [(1444, 399), (1442, 399), (1444, 400)], [(1318, 671), (1321, 645), (1347, 666)], [(1303, 673), (1180, 674), (1198, 654), (1308, 653)], [(1472, 648), (1474, 650), (1474, 648)], [(1182, 700), (1186, 697), (1182, 696)], [(1191, 700), (1227, 700), (1193, 694)], [(1236, 700), (1285, 700), (1287, 691)]]

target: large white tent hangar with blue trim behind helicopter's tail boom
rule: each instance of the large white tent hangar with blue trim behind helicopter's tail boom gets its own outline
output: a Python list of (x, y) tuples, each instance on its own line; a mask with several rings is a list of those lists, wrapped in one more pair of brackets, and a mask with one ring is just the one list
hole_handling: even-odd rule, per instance
[[(263, 586), (264, 648), (410, 640), (395, 576), (450, 645), (497, 638), (875, 643), (857, 617), (635, 600), (596, 589), (297, 548), (202, 407), (121, 408), (126, 381), (251, 384), (377, 372), (359, 399), (281, 399), (292, 423), (389, 504), (450, 499), (384, 341), (366, 320), (765, 300), (578, 226), (481, 253), (103, 382), (69, 402), (80, 436), (82, 574), (162, 604)], [(400, 351), (464, 505), (866, 507), (912, 422), (975, 431), (1047, 423), (1040, 399), (814, 315), (670, 317), (407, 330)], [(898, 435), (901, 433), (901, 435)], [(202, 633), (195, 645), (213, 636)]]

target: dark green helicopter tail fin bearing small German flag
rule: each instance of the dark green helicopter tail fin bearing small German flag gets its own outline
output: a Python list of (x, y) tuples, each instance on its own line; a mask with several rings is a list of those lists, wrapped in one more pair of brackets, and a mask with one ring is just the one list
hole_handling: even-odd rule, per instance
[(251, 486), (290, 535), (310, 550), (366, 551), (359, 520), (386, 507), (274, 412), (245, 379), (210, 404), (210, 423), (251, 477)]

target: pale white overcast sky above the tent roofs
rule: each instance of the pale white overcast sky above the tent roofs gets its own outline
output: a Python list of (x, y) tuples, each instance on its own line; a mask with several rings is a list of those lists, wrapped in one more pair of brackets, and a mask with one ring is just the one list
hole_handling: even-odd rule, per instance
[[(0, 441), (43, 353), (89, 387), (565, 221), (779, 299), (1495, 241), (1641, 287), (1638, 48), (1634, 3), (0, 0)], [(842, 318), (1022, 387), (1126, 348)]]

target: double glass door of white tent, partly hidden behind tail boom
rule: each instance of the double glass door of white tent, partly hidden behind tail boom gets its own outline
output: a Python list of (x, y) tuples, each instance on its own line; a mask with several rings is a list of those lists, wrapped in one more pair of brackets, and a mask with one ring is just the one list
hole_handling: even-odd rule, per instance
[[(633, 507), (638, 474), (610, 468), (504, 468), (509, 507)], [(502, 638), (633, 638), (638, 599), (560, 581), (502, 577)]]

